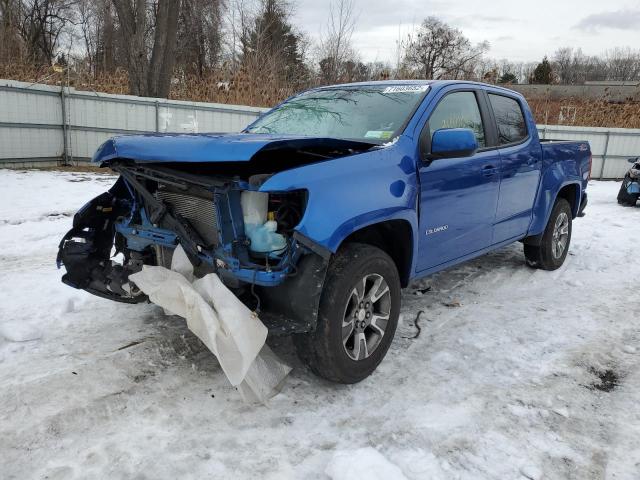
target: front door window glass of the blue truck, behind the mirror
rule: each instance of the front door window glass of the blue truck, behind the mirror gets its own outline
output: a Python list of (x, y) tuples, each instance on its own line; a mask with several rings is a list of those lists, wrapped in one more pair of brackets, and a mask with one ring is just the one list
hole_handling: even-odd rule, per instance
[(429, 118), (431, 135), (443, 128), (470, 128), (476, 134), (478, 146), (486, 145), (480, 108), (473, 92), (450, 93), (440, 101)]

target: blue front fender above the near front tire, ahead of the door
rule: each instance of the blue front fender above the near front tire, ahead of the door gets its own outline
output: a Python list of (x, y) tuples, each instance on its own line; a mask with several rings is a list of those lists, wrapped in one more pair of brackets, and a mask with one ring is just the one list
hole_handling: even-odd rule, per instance
[(408, 221), (415, 242), (413, 148), (401, 135), (392, 145), (278, 173), (260, 191), (306, 190), (307, 207), (296, 230), (332, 253), (353, 232), (387, 220)]

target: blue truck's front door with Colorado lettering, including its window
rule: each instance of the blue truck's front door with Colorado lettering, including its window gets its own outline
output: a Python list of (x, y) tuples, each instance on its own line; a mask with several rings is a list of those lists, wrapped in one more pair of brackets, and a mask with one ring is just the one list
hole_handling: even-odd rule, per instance
[[(417, 271), (425, 271), (491, 245), (499, 193), (500, 155), (488, 149), (490, 117), (474, 89), (446, 93), (421, 134), (427, 152), (433, 133), (470, 128), (480, 150), (473, 156), (419, 164), (420, 237)], [(426, 142), (425, 142), (426, 138)]]

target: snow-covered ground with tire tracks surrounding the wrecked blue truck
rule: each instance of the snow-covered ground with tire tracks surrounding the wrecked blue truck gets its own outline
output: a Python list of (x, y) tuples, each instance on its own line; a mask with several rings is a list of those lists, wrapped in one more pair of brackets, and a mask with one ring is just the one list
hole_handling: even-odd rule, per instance
[(294, 371), (255, 408), (184, 322), (60, 283), (70, 216), (112, 182), (0, 171), (0, 477), (640, 478), (640, 208), (618, 183), (591, 183), (560, 270), (515, 244), (408, 288), (358, 385), (271, 342)]

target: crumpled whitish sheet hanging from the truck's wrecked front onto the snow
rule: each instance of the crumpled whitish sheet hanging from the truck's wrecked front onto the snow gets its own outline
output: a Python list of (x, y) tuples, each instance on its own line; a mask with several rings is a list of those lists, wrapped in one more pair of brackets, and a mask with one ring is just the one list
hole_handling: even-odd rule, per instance
[(291, 368), (265, 344), (267, 327), (216, 274), (194, 279), (182, 247), (173, 254), (171, 270), (145, 265), (129, 279), (153, 303), (187, 320), (246, 402), (265, 403), (280, 391)]

